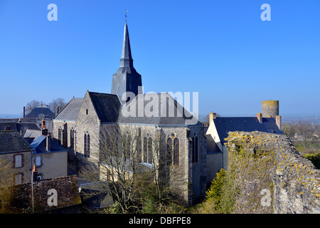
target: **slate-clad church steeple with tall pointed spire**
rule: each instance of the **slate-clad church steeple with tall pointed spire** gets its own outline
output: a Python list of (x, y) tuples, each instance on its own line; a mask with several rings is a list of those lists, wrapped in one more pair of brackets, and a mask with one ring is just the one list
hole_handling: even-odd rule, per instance
[(117, 73), (114, 73), (112, 77), (111, 93), (118, 95), (119, 100), (122, 100), (122, 95), (124, 93), (127, 94), (127, 92), (132, 92), (135, 95), (142, 93), (142, 78), (133, 66), (129, 31), (126, 21), (126, 23), (124, 24), (124, 37), (122, 45), (122, 56), (120, 59), (120, 68), (118, 69)]

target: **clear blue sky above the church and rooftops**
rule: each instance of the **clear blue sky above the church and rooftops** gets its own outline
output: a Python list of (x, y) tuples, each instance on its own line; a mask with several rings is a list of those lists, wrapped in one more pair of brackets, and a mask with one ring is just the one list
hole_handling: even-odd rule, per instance
[(320, 113), (319, 0), (0, 0), (0, 113), (110, 93), (125, 9), (145, 92), (198, 92), (202, 115), (255, 116), (262, 100)]

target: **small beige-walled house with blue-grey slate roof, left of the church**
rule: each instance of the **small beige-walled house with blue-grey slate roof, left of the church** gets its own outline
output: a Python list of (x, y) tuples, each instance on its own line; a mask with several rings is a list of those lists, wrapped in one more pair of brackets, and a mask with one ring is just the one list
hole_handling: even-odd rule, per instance
[(33, 148), (32, 164), (36, 164), (37, 180), (64, 177), (68, 175), (68, 149), (55, 142), (43, 130), (30, 146)]

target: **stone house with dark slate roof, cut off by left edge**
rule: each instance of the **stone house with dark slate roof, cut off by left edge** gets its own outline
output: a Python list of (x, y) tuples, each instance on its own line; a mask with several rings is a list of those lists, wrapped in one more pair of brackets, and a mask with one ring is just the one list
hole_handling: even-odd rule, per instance
[[(0, 131), (0, 159), (12, 170), (15, 185), (31, 180), (31, 155), (33, 148), (16, 130)], [(1, 174), (1, 175), (8, 175)]]

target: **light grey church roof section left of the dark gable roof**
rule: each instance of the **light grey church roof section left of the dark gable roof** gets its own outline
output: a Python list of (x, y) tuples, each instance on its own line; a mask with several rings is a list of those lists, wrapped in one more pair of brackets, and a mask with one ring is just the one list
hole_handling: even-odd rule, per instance
[(78, 117), (83, 98), (72, 98), (55, 116), (55, 120), (75, 120)]

